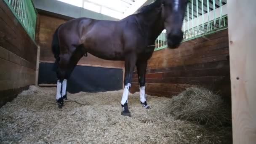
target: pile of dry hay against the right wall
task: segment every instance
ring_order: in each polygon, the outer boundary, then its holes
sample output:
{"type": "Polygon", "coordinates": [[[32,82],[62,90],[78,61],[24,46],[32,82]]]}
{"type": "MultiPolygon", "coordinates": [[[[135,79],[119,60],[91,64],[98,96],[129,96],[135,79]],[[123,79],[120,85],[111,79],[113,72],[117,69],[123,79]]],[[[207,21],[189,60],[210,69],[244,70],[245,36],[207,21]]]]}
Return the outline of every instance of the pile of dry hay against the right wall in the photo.
{"type": "Polygon", "coordinates": [[[231,108],[221,96],[206,88],[190,87],[174,96],[170,112],[176,119],[189,120],[210,127],[231,123],[231,108]]]}

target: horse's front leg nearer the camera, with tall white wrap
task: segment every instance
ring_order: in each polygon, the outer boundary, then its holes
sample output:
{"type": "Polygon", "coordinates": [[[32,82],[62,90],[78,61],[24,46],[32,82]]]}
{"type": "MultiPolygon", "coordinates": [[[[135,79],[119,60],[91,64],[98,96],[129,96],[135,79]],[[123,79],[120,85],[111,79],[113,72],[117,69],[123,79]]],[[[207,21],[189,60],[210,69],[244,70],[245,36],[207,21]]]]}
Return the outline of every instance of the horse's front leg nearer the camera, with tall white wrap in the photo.
{"type": "Polygon", "coordinates": [[[131,117],[131,113],[128,109],[128,93],[131,88],[131,81],[133,76],[133,69],[136,64],[136,54],[128,54],[125,56],[125,77],[124,77],[124,89],[123,89],[123,97],[121,100],[121,106],[123,111],[121,115],[131,117]]]}

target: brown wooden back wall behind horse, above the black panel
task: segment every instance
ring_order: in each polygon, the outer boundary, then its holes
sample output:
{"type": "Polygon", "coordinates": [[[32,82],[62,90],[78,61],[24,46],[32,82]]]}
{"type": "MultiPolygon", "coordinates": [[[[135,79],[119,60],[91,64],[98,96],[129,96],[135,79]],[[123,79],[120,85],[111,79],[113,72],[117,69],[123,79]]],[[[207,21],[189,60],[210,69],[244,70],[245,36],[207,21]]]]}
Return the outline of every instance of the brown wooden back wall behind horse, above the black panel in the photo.
{"type": "MultiPolygon", "coordinates": [[[[40,61],[55,61],[53,53],[51,52],[52,36],[56,28],[66,21],[67,19],[59,18],[59,16],[50,16],[46,13],[38,14],[36,42],[38,45],[40,45],[40,61]]],[[[92,56],[89,53],[88,57],[83,57],[80,59],[78,64],[100,67],[124,67],[123,61],[107,61],[92,56]]]]}

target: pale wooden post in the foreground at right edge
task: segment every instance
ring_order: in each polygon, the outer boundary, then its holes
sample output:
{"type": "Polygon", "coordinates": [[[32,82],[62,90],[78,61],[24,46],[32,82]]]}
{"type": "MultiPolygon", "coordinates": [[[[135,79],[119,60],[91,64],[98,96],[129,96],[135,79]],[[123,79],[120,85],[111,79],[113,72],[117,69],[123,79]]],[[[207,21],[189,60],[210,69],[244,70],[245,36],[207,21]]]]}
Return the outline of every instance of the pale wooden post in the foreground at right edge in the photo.
{"type": "Polygon", "coordinates": [[[228,0],[234,144],[256,144],[256,0],[228,0]]]}

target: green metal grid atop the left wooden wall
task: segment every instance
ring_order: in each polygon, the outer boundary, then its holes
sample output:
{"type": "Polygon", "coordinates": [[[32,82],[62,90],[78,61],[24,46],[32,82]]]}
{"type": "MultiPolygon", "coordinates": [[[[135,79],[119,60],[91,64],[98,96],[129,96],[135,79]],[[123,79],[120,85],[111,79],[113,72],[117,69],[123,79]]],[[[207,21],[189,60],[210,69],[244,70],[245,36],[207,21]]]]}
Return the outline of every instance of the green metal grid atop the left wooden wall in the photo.
{"type": "Polygon", "coordinates": [[[37,11],[32,0],[4,0],[29,37],[35,41],[37,11]]]}

